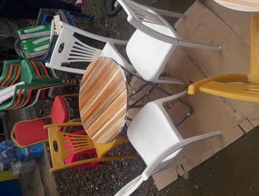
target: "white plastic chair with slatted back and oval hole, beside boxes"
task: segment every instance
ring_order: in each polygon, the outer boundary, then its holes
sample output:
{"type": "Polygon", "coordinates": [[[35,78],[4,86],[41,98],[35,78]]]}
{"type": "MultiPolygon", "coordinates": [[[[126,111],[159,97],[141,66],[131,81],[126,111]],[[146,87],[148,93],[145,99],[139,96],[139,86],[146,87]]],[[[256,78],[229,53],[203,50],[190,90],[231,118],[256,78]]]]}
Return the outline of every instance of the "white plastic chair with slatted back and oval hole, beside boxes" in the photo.
{"type": "Polygon", "coordinates": [[[131,71],[136,71],[132,65],[130,65],[119,51],[115,48],[114,44],[127,45],[127,41],[115,40],[99,35],[95,35],[81,29],[75,28],[73,26],[67,25],[64,22],[60,22],[60,25],[63,27],[61,33],[55,44],[52,57],[49,63],[46,63],[47,67],[58,69],[62,71],[68,71],[73,73],[84,74],[85,70],[64,67],[61,64],[64,62],[92,62],[100,56],[106,56],[114,59],[120,65],[126,67],[131,71]],[[106,45],[103,50],[93,48],[87,44],[82,43],[74,37],[74,33],[78,33],[88,38],[106,42],[106,45]],[[64,44],[64,47],[61,52],[59,52],[59,46],[64,44]]]}

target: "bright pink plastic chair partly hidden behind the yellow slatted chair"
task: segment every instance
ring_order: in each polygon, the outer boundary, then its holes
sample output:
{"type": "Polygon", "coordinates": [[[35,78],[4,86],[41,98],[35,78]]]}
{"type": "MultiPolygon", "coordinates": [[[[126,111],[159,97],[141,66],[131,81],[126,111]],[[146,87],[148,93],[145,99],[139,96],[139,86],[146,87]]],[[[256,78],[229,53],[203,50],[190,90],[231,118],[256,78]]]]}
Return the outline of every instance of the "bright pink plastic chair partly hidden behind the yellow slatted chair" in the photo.
{"type": "MultiPolygon", "coordinates": [[[[73,132],[73,134],[75,135],[79,135],[79,134],[84,134],[84,135],[87,135],[87,132],[85,132],[85,130],[80,130],[80,131],[76,131],[76,132],[73,132]]],[[[66,137],[73,137],[73,136],[66,136],[66,137]]],[[[74,140],[65,140],[65,141],[74,141],[74,140]]],[[[66,144],[66,145],[74,145],[76,143],[70,143],[70,144],[66,144]]],[[[69,147],[67,149],[71,149],[71,148],[77,148],[77,146],[73,146],[73,147],[69,147]]],[[[71,151],[70,153],[72,153],[74,151],[71,151]]],[[[72,155],[70,157],[68,157],[67,159],[65,159],[65,163],[68,164],[68,163],[72,163],[72,162],[76,162],[77,159],[78,159],[78,156],[79,155],[83,155],[84,159],[90,159],[88,153],[93,153],[95,152],[95,157],[94,158],[98,158],[98,155],[97,155],[97,152],[96,152],[96,149],[90,149],[90,150],[85,150],[83,152],[79,152],[78,154],[75,154],[75,155],[72,155]]],[[[77,165],[77,166],[73,166],[73,167],[70,167],[70,168],[82,168],[82,167],[102,167],[103,164],[99,164],[98,162],[94,162],[94,163],[88,163],[88,164],[83,164],[83,165],[77,165]]]]}

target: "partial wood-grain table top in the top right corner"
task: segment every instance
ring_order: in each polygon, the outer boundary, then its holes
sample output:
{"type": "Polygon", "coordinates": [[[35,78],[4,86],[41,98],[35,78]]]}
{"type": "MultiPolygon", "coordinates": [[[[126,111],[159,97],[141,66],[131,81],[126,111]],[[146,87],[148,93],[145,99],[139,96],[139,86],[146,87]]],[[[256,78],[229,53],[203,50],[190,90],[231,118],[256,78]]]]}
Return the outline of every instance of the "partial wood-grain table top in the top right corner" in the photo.
{"type": "Polygon", "coordinates": [[[214,0],[227,8],[245,12],[259,12],[259,0],[214,0]]]}

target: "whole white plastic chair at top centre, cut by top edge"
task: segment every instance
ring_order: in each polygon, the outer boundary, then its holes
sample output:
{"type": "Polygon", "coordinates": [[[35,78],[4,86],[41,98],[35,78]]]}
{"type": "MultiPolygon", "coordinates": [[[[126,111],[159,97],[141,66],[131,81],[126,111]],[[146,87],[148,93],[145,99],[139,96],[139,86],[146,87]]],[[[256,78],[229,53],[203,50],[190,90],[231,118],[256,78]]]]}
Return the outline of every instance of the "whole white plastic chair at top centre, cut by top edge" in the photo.
{"type": "Polygon", "coordinates": [[[118,0],[118,2],[128,14],[128,22],[137,28],[127,45],[127,55],[137,72],[147,81],[157,83],[181,81],[159,78],[177,46],[221,50],[220,46],[182,40],[175,29],[159,14],[176,18],[185,18],[186,15],[146,7],[130,0],[118,0]]]}

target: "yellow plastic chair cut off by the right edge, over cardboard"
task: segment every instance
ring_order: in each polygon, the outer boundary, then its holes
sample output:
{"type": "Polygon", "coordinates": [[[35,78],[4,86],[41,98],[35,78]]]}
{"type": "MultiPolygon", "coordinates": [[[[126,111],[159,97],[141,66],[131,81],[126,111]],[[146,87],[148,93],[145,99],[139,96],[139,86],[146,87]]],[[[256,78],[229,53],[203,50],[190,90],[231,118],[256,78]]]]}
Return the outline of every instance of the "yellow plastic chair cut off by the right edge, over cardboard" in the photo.
{"type": "Polygon", "coordinates": [[[224,74],[202,79],[188,87],[188,94],[202,91],[230,99],[259,103],[259,13],[251,14],[249,37],[249,75],[224,74]]]}

